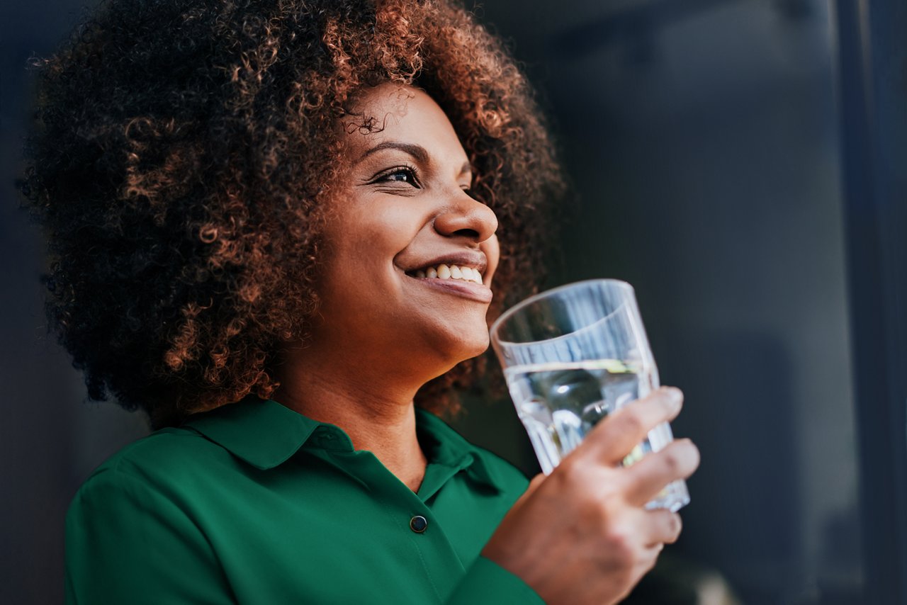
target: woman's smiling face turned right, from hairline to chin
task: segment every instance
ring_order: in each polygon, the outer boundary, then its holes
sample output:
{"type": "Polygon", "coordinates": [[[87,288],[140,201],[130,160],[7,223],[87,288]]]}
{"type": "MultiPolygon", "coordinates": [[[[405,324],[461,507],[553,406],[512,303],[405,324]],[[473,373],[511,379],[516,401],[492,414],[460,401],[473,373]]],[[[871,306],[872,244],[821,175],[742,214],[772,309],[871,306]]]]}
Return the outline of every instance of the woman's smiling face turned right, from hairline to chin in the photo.
{"type": "Polygon", "coordinates": [[[451,122],[424,92],[388,83],[340,127],[344,171],[312,346],[437,374],[482,353],[498,223],[467,192],[472,171],[451,122]]]}

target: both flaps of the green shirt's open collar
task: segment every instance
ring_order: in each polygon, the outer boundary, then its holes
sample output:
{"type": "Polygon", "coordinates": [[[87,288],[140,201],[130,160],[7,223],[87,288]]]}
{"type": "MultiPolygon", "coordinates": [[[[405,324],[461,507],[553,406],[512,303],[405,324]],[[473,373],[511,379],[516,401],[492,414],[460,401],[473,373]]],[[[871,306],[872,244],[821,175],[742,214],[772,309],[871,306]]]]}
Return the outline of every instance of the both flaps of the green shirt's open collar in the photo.
{"type": "MultiPolygon", "coordinates": [[[[464,470],[480,483],[500,489],[483,450],[430,412],[416,408],[415,422],[429,464],[464,470]]],[[[317,422],[272,399],[255,396],[190,416],[185,425],[262,470],[283,464],[310,440],[317,446],[318,440],[311,439],[315,434],[336,434],[347,445],[345,449],[352,450],[349,437],[334,424],[317,422]]]]}

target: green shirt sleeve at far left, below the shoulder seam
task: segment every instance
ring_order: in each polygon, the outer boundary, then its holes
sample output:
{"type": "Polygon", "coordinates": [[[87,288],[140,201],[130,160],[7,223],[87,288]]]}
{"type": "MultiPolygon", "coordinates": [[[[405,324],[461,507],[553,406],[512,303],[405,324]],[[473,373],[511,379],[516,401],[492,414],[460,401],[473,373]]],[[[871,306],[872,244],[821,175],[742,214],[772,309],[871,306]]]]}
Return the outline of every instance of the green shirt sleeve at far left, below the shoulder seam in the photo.
{"type": "Polygon", "coordinates": [[[67,605],[232,603],[199,527],[138,478],[103,470],[66,515],[67,605]]]}

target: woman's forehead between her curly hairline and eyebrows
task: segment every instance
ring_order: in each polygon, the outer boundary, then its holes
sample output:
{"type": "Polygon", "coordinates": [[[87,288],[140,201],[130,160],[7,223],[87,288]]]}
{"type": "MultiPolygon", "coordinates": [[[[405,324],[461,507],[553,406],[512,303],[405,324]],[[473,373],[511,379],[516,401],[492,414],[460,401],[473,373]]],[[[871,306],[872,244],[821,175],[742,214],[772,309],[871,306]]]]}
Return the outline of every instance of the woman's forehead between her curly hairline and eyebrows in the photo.
{"type": "Polygon", "coordinates": [[[367,89],[341,118],[349,151],[364,152],[385,141],[420,145],[439,161],[462,163],[463,145],[444,110],[417,88],[385,83],[367,89]]]}

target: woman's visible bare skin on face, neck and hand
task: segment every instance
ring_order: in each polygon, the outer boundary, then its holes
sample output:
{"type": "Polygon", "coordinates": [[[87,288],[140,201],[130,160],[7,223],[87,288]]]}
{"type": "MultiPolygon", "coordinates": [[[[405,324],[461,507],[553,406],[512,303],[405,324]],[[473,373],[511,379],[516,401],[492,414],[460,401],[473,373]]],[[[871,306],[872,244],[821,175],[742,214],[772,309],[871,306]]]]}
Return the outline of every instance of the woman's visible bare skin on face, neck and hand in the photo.
{"type": "MultiPolygon", "coordinates": [[[[307,346],[285,352],[275,399],[340,426],[417,490],[426,461],[413,397],[488,347],[497,220],[469,197],[466,154],[425,93],[383,84],[363,92],[353,113],[361,115],[337,126],[345,170],[331,202],[321,315],[307,346]],[[384,128],[363,132],[363,116],[384,128]],[[481,268],[483,285],[413,277],[445,259],[481,268]]],[[[483,556],[550,604],[625,597],[680,532],[676,513],[645,503],[693,473],[699,457],[681,439],[629,468],[620,461],[678,415],[682,400],[661,388],[598,424],[551,475],[532,481],[483,556]]]]}

